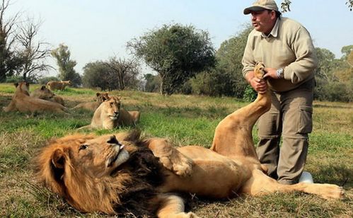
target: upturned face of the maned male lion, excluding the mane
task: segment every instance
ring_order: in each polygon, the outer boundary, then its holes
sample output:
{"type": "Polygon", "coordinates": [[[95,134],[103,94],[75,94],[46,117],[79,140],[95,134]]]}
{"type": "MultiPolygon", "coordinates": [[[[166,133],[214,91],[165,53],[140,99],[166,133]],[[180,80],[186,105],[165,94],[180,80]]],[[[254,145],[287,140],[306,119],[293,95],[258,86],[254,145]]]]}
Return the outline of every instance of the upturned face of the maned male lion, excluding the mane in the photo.
{"type": "Polygon", "coordinates": [[[68,137],[56,143],[51,156],[54,168],[73,166],[92,178],[110,176],[115,168],[129,159],[124,145],[114,135],[90,137],[68,137]]]}

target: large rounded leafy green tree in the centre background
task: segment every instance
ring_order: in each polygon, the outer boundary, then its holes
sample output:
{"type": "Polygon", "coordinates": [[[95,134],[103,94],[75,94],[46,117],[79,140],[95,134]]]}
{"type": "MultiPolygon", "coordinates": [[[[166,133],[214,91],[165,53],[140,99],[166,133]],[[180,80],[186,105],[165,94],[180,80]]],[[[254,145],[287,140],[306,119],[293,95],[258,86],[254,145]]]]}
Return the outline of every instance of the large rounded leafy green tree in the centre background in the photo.
{"type": "Polygon", "coordinates": [[[209,34],[192,25],[163,25],[128,42],[127,47],[158,72],[163,95],[171,95],[190,77],[215,64],[209,34]]]}

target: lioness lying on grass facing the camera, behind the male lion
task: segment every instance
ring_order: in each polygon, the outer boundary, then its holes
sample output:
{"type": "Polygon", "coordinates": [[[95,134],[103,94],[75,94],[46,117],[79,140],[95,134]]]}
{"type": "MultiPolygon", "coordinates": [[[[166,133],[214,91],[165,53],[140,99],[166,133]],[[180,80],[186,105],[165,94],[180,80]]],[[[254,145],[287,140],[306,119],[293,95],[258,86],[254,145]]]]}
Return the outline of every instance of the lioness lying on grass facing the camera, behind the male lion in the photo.
{"type": "Polygon", "coordinates": [[[110,97],[99,105],[93,114],[91,124],[79,128],[82,129],[105,129],[112,130],[120,126],[136,125],[139,121],[139,112],[132,111],[129,113],[121,108],[120,98],[110,97]]]}

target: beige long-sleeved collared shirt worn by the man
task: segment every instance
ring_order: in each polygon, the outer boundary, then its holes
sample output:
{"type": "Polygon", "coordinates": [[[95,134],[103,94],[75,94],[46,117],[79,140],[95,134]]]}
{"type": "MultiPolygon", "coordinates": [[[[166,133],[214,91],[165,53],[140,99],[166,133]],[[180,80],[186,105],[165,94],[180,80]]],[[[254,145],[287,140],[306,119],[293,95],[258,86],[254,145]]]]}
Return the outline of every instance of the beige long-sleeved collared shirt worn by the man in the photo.
{"type": "Polygon", "coordinates": [[[318,65],[308,30],[289,18],[277,18],[268,36],[255,29],[251,31],[242,60],[244,77],[257,62],[284,69],[284,79],[269,79],[273,91],[289,91],[313,79],[318,65]]]}

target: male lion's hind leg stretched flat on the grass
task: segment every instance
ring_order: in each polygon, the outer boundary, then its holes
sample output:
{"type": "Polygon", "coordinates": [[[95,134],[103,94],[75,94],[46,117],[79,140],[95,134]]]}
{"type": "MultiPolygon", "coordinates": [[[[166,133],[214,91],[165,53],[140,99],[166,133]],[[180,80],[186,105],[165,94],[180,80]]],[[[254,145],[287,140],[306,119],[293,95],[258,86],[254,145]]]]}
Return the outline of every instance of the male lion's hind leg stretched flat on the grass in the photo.
{"type": "Polygon", "coordinates": [[[327,200],[342,199],[345,195],[343,188],[338,185],[318,183],[284,185],[265,175],[260,170],[255,170],[253,172],[253,178],[250,178],[242,189],[243,193],[248,193],[253,196],[267,195],[270,193],[291,193],[294,191],[318,195],[327,200]]]}

